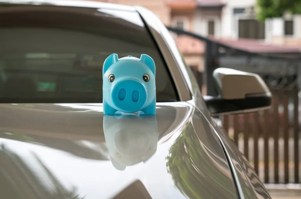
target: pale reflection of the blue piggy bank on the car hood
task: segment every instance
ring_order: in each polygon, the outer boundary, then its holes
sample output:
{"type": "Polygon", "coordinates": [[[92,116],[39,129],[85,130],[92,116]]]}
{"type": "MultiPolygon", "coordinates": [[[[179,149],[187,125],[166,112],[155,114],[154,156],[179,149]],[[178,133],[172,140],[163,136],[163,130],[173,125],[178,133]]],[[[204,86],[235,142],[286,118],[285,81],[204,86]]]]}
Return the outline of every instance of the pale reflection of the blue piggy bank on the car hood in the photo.
{"type": "Polygon", "coordinates": [[[104,115],[103,132],[111,162],[118,170],[145,162],[157,150],[156,115],[104,115]]]}

